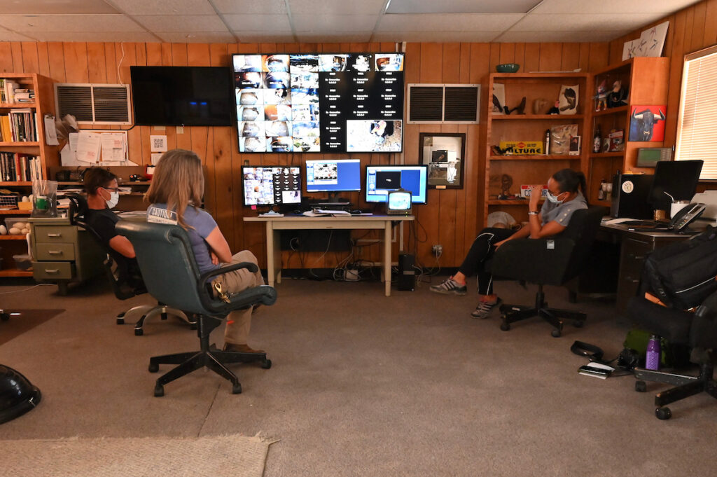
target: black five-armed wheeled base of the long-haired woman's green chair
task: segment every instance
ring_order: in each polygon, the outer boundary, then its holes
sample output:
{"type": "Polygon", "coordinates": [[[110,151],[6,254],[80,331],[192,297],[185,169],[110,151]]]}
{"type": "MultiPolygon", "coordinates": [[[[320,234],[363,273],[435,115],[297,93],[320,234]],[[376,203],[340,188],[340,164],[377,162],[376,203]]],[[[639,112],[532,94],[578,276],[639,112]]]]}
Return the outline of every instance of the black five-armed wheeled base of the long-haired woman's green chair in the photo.
{"type": "Polygon", "coordinates": [[[222,320],[211,316],[199,316],[197,320],[197,335],[199,336],[199,351],[189,351],[186,353],[165,354],[163,356],[154,356],[149,359],[149,372],[158,372],[160,364],[179,364],[171,371],[163,374],[157,379],[154,386],[155,397],[164,395],[164,384],[174,381],[185,374],[189,374],[196,369],[207,367],[232,382],[232,394],[242,392],[242,384],[239,383],[237,376],[224,366],[230,363],[250,363],[261,362],[261,367],[269,369],[271,360],[267,359],[266,353],[242,353],[237,351],[219,351],[216,346],[209,344],[209,334],[214,328],[217,328],[222,320]]]}

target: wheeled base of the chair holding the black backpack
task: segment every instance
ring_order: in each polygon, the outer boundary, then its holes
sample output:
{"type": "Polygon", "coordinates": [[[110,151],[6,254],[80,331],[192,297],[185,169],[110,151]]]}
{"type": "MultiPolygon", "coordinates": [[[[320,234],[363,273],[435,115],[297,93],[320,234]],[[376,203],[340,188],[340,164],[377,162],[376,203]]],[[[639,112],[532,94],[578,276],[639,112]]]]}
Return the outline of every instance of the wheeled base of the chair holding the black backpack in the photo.
{"type": "Polygon", "coordinates": [[[635,391],[638,392],[647,390],[645,381],[664,382],[676,386],[655,395],[655,406],[657,406],[655,417],[660,420],[672,417],[672,411],[667,407],[668,404],[683,400],[685,397],[706,392],[717,399],[717,382],[713,377],[713,364],[711,363],[701,364],[698,376],[685,376],[683,374],[652,371],[652,369],[635,368],[635,377],[640,379],[640,381],[635,382],[635,391]]]}

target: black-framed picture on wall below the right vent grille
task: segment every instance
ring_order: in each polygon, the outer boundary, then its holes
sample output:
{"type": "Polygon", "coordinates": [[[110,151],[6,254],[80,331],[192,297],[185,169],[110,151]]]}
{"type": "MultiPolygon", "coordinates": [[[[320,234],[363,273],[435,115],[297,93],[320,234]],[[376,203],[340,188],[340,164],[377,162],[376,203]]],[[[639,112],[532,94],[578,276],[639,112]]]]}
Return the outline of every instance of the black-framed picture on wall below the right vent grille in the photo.
{"type": "Polygon", "coordinates": [[[419,164],[428,165],[428,186],[462,189],[465,133],[420,133],[419,164]]]}

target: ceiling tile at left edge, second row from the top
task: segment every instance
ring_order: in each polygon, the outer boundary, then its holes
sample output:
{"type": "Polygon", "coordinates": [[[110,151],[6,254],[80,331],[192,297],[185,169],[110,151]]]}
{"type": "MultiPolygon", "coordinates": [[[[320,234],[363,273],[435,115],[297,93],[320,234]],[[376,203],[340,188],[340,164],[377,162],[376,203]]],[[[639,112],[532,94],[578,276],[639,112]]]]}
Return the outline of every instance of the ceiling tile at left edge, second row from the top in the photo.
{"type": "Polygon", "coordinates": [[[0,26],[16,32],[141,32],[124,15],[0,15],[0,26]]]}

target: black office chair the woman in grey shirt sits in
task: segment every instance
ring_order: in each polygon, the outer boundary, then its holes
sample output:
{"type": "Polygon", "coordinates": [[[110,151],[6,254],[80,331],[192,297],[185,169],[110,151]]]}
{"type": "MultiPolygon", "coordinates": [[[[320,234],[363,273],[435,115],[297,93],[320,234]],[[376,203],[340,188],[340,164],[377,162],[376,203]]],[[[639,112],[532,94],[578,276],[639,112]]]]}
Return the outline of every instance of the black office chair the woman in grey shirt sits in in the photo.
{"type": "Polygon", "coordinates": [[[548,308],[543,285],[564,285],[582,271],[594,241],[600,220],[607,213],[605,207],[592,206],[577,210],[566,229],[555,237],[516,239],[505,242],[487,264],[496,278],[536,283],[535,306],[500,306],[500,329],[508,331],[511,323],[540,316],[553,326],[551,334],[559,337],[563,330],[561,318],[583,326],[587,315],[577,311],[548,308]]]}

